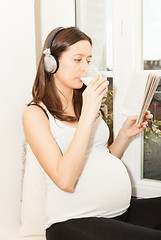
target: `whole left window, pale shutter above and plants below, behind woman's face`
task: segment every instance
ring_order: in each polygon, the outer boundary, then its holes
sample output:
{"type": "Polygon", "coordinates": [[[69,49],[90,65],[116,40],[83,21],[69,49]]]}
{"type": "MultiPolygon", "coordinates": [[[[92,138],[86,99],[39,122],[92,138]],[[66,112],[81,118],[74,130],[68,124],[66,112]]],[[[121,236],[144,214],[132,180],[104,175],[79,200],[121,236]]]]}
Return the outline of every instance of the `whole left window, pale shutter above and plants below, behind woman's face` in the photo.
{"type": "Polygon", "coordinates": [[[76,0],[76,25],[93,41],[92,63],[107,77],[109,88],[102,101],[104,120],[113,141],[113,26],[112,0],[76,0]]]}

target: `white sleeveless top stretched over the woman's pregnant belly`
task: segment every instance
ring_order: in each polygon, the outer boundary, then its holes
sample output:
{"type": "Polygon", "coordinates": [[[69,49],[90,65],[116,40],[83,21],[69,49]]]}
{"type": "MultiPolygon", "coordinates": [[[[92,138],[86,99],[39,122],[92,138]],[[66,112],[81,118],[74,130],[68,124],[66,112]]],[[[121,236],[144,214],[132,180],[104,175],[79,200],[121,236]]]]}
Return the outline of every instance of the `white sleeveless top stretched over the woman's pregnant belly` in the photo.
{"type": "MultiPolygon", "coordinates": [[[[47,112],[51,133],[64,154],[73,139],[76,128],[55,119],[43,104],[41,106],[47,112]]],[[[59,189],[44,172],[47,184],[46,215],[48,219],[45,229],[53,223],[75,218],[112,218],[127,210],[131,199],[129,175],[121,160],[109,152],[108,138],[109,128],[104,120],[98,117],[93,124],[84,169],[74,192],[59,189]]]]}

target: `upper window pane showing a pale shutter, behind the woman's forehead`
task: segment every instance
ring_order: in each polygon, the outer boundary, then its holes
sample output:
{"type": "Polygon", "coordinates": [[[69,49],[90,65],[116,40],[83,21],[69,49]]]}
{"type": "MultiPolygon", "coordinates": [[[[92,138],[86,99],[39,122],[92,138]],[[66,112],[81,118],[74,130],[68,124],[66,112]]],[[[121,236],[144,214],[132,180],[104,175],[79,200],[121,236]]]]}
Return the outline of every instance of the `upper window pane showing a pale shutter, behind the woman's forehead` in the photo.
{"type": "Polygon", "coordinates": [[[106,0],[76,0],[76,25],[93,41],[92,62],[106,70],[106,0]]]}

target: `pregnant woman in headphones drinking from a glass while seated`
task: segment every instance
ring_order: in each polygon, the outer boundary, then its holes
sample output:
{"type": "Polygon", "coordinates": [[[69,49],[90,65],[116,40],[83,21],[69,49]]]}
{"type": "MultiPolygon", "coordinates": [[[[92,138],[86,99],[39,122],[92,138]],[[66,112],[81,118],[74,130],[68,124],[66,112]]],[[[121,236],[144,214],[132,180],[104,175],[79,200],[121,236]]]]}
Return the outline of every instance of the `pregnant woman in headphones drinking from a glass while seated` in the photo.
{"type": "Polygon", "coordinates": [[[140,125],[130,116],[108,146],[100,113],[108,81],[85,77],[92,41],[76,27],[47,37],[31,102],[23,112],[26,139],[46,177],[47,240],[159,240],[161,198],[134,199],[120,158],[140,125]]]}

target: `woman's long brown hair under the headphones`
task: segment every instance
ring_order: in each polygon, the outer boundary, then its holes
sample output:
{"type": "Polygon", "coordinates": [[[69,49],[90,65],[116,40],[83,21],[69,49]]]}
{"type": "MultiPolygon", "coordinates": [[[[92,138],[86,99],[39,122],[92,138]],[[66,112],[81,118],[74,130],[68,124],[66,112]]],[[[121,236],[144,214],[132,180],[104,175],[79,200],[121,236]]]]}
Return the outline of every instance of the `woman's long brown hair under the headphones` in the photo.
{"type": "MultiPolygon", "coordinates": [[[[53,31],[55,30],[56,29],[54,29],[53,31]]],[[[53,31],[51,31],[47,36],[46,41],[44,43],[43,51],[46,49],[48,39],[53,31]]],[[[79,28],[77,27],[64,28],[63,30],[58,32],[57,35],[55,36],[51,46],[51,54],[56,55],[56,57],[59,60],[62,53],[65,52],[69,46],[81,40],[87,40],[92,45],[91,38],[88,37],[82,31],[80,31],[79,28]]],[[[64,110],[62,108],[62,103],[61,103],[57,88],[55,86],[55,83],[54,81],[50,81],[50,77],[51,77],[50,74],[48,74],[44,70],[43,51],[39,61],[36,78],[32,88],[33,99],[28,104],[28,106],[31,105],[32,103],[39,104],[40,102],[42,102],[55,118],[58,118],[62,121],[69,121],[69,122],[79,120],[80,114],[81,114],[81,108],[82,108],[82,92],[84,91],[86,86],[83,84],[83,87],[81,89],[74,89],[73,107],[74,107],[75,117],[64,115],[64,110]]]]}

